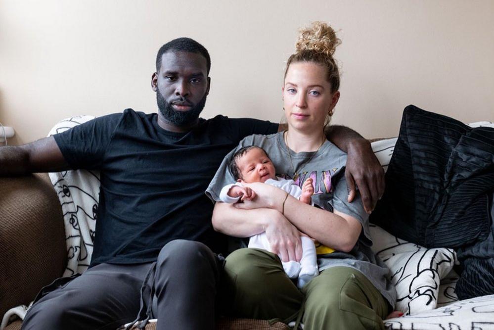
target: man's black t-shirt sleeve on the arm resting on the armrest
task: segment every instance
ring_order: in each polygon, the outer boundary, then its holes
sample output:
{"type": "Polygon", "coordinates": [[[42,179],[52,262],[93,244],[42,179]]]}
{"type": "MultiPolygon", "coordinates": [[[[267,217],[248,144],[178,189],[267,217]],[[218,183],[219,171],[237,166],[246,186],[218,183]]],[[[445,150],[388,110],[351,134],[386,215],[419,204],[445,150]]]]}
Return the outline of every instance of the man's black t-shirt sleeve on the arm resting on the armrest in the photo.
{"type": "Polygon", "coordinates": [[[69,166],[72,169],[100,169],[121,117],[122,114],[98,117],[53,135],[69,166]]]}

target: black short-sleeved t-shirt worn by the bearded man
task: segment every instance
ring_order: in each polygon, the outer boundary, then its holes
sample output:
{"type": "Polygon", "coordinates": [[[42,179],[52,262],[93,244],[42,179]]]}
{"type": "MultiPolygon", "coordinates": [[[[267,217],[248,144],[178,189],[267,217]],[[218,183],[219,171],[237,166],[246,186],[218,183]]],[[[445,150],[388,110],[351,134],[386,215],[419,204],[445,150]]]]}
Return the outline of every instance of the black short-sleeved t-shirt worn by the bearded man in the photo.
{"type": "Polygon", "coordinates": [[[188,133],[174,133],[159,127],[157,117],[127,109],[54,136],[71,168],[101,171],[91,266],[152,261],[178,238],[225,251],[226,238],[213,230],[213,204],[204,191],[240,140],[278,128],[216,116],[199,119],[188,133]]]}

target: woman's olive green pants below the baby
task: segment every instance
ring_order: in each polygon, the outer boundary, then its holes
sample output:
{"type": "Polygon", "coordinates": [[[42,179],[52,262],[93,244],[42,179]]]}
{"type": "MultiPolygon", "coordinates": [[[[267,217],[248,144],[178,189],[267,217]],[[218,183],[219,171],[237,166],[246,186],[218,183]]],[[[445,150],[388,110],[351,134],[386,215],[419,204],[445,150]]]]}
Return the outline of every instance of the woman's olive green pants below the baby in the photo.
{"type": "Polygon", "coordinates": [[[226,258],[221,310],[225,315],[289,322],[303,313],[305,330],[384,329],[388,303],[359,271],[329,268],[302,290],[277,255],[239,249],[226,258]],[[300,314],[299,314],[300,313],[300,314]]]}

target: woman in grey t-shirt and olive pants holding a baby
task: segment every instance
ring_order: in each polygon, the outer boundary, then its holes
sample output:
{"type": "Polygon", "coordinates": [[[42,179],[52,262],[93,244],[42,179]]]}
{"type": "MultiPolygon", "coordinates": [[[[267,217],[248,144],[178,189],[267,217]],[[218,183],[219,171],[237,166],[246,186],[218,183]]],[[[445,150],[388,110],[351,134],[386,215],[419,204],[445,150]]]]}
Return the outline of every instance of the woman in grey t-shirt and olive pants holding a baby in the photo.
{"type": "MultiPolygon", "coordinates": [[[[300,184],[312,177],[313,202],[320,208],[262,183],[249,185],[257,194],[252,201],[216,203],[217,231],[238,237],[266,231],[273,252],[239,249],[226,258],[227,314],[285,322],[303,316],[306,330],[384,329],[382,319],[394,306],[396,292],[387,279],[388,269],[370,249],[368,214],[361,200],[347,201],[346,154],[324,135],[340,97],[333,58],[339,43],[324,23],[301,31],[282,89],[288,131],[250,136],[239,145],[263,147],[277,176],[300,184]],[[321,273],[299,291],[283,272],[280,258],[300,260],[301,233],[318,242],[321,273]],[[330,253],[328,247],[336,251],[330,253]]],[[[208,193],[217,196],[229,178],[224,161],[208,193]]]]}

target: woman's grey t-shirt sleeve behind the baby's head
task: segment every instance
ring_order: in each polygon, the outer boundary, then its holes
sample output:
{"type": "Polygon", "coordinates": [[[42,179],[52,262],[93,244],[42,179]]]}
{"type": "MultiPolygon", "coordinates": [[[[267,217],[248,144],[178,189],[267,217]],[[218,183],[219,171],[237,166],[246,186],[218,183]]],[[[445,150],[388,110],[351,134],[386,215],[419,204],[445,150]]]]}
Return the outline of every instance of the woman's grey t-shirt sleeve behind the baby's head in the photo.
{"type": "Polygon", "coordinates": [[[220,168],[218,168],[218,171],[216,171],[213,180],[211,180],[211,183],[206,189],[206,195],[209,198],[211,198],[213,202],[221,201],[220,192],[223,187],[236,182],[235,178],[230,172],[230,169],[228,168],[228,164],[230,162],[231,157],[238,149],[240,149],[243,146],[256,145],[255,139],[256,139],[255,135],[246,137],[245,139],[240,141],[240,143],[233,150],[228,152],[225,158],[223,158],[220,168]]]}

